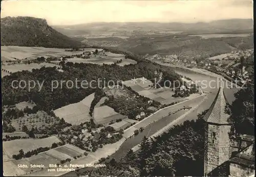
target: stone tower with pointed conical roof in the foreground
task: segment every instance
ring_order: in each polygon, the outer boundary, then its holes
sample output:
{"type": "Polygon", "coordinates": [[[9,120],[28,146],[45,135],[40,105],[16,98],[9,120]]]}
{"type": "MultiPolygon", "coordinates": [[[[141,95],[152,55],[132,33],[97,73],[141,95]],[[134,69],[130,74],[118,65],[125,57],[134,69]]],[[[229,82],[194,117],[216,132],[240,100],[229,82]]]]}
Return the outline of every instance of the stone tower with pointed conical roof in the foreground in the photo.
{"type": "MultiPolygon", "coordinates": [[[[228,102],[221,84],[214,102],[203,118],[205,121],[204,176],[211,176],[213,170],[218,170],[217,167],[230,158],[228,133],[231,123],[229,115],[225,111],[227,105],[228,102]]],[[[219,172],[217,173],[219,174],[219,172]]],[[[216,176],[216,172],[214,174],[216,176]]]]}

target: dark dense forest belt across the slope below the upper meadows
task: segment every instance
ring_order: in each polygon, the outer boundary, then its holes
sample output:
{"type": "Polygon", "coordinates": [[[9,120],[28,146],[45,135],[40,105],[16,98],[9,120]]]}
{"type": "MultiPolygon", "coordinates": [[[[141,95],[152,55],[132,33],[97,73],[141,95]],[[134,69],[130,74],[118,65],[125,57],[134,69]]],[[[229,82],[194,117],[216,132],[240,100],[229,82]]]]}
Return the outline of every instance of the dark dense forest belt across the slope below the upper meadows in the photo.
{"type": "MultiPolygon", "coordinates": [[[[150,62],[141,61],[137,64],[125,65],[120,67],[116,64],[112,65],[97,65],[91,63],[75,63],[69,64],[65,63],[62,65],[64,72],[59,72],[56,67],[40,69],[33,69],[32,72],[21,71],[12,73],[9,76],[5,76],[2,79],[2,104],[3,105],[13,105],[23,101],[33,101],[37,105],[37,110],[45,110],[47,113],[51,110],[57,109],[59,107],[76,103],[81,101],[83,98],[95,92],[93,87],[97,87],[97,83],[92,83],[92,87],[88,89],[82,89],[75,86],[69,89],[66,84],[63,87],[60,86],[53,90],[52,92],[52,81],[68,81],[71,80],[75,83],[78,81],[86,80],[88,82],[92,80],[105,80],[106,82],[113,81],[125,81],[131,78],[141,78],[145,77],[147,79],[152,79],[155,77],[154,72],[162,72],[171,82],[174,80],[180,80],[180,76],[174,71],[170,70],[168,67],[150,62]],[[71,67],[72,65],[72,67],[71,67]],[[38,81],[40,83],[44,82],[40,92],[39,86],[37,85],[30,92],[28,87],[25,89],[13,89],[12,81],[25,80],[27,83],[29,80],[38,81]]],[[[78,83],[79,85],[79,83],[78,83]]],[[[18,86],[18,85],[15,85],[18,86]]],[[[68,85],[69,86],[69,85],[68,85]]]]}

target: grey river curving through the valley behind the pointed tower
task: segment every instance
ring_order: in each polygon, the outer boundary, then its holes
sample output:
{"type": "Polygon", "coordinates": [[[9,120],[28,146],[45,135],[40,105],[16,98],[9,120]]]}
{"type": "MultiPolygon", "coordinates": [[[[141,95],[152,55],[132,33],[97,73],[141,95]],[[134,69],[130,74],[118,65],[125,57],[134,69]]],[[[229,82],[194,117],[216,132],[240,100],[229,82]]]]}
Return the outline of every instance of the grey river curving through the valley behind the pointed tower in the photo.
{"type": "MultiPolygon", "coordinates": [[[[174,69],[174,68],[170,68],[170,69],[174,69]]],[[[194,81],[200,81],[197,82],[199,86],[202,86],[202,90],[209,92],[207,94],[207,99],[197,108],[194,110],[193,113],[189,114],[188,116],[186,116],[182,121],[185,120],[195,120],[197,119],[197,115],[202,113],[205,109],[208,109],[211,105],[211,103],[214,101],[216,94],[219,90],[218,84],[217,84],[217,78],[216,77],[211,77],[208,75],[203,75],[200,73],[195,73],[195,72],[191,72],[191,71],[187,71],[184,69],[179,69],[179,68],[175,68],[174,69],[176,71],[176,73],[186,76],[194,81]],[[203,82],[202,82],[203,81],[203,82]],[[205,83],[211,83],[211,87],[207,86],[205,87],[205,83]]],[[[220,84],[219,84],[220,85],[220,84]]],[[[223,84],[223,90],[225,93],[225,96],[228,100],[228,102],[231,104],[232,101],[234,100],[234,93],[236,93],[238,91],[238,89],[229,89],[226,86],[226,82],[224,82],[223,84]]],[[[194,101],[188,101],[185,102],[184,104],[181,104],[180,106],[193,106],[195,103],[197,103],[198,100],[194,100],[194,101]]],[[[175,109],[176,106],[174,106],[175,109]]],[[[179,106],[177,105],[176,108],[178,108],[179,106]]],[[[151,135],[153,135],[155,132],[157,132],[158,130],[160,130],[161,128],[163,128],[165,125],[167,125],[168,123],[174,121],[176,118],[178,118],[179,116],[183,115],[187,110],[181,110],[178,113],[174,114],[174,115],[170,115],[170,116],[166,116],[158,121],[156,121],[155,123],[148,125],[147,127],[144,128],[144,130],[142,132],[140,132],[137,136],[134,136],[130,139],[127,139],[119,148],[119,150],[112,154],[111,158],[115,158],[115,160],[120,160],[126,153],[127,151],[129,151],[131,148],[133,148],[134,146],[138,145],[142,138],[144,136],[146,137],[150,137],[151,135]]],[[[180,122],[182,123],[182,122],[180,122]]],[[[79,172],[85,171],[85,170],[90,170],[92,168],[84,168],[84,169],[80,169],[79,172]]],[[[69,172],[66,173],[65,176],[76,176],[75,172],[69,172]]]]}

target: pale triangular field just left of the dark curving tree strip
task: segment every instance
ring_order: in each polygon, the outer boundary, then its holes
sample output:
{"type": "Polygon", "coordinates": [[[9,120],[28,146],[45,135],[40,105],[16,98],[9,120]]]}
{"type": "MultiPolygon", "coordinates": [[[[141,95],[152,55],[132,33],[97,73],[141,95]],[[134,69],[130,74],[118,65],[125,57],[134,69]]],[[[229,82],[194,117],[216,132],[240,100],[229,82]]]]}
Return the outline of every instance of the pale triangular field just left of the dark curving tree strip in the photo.
{"type": "Polygon", "coordinates": [[[78,125],[89,121],[92,117],[89,115],[90,106],[94,99],[94,93],[84,98],[78,103],[69,104],[54,110],[54,113],[60,119],[63,118],[66,122],[72,125],[78,125]]]}

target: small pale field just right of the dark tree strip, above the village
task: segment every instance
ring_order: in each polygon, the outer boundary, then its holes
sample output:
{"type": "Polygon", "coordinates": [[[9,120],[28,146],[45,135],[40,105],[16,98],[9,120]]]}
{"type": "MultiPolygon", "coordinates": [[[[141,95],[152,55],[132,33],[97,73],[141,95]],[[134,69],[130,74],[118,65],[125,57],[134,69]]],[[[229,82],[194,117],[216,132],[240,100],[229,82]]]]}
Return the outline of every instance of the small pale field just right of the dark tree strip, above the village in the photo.
{"type": "Polygon", "coordinates": [[[124,119],[126,117],[116,113],[109,106],[101,106],[94,108],[93,118],[99,124],[106,124],[111,122],[111,120],[124,119]]]}

